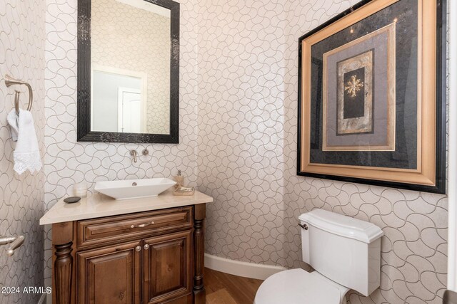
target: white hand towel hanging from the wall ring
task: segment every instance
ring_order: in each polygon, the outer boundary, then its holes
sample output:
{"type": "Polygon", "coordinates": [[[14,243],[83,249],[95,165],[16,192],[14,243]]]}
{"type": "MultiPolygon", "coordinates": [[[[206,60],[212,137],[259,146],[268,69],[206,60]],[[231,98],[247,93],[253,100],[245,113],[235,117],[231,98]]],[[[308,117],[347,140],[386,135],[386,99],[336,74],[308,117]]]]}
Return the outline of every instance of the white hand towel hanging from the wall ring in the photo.
{"type": "Polygon", "coordinates": [[[19,125],[16,120],[16,110],[11,110],[7,118],[11,125],[11,137],[16,136],[17,144],[14,150],[14,171],[22,174],[29,170],[31,173],[41,169],[41,156],[36,140],[34,117],[31,112],[19,110],[19,125]]]}

